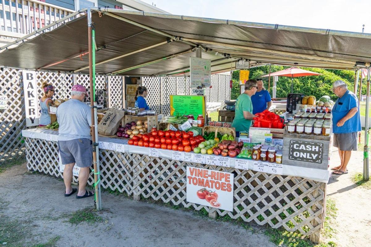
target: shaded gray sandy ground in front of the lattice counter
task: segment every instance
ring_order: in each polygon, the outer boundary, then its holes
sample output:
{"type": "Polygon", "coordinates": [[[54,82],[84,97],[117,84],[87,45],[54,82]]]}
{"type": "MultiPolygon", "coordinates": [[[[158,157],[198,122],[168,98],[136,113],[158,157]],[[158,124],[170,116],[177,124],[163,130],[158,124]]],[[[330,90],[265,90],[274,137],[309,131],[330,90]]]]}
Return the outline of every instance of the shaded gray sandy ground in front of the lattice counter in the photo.
{"type": "Polygon", "coordinates": [[[30,174],[25,165],[1,173],[0,188],[0,217],[6,215],[24,223],[32,244],[61,236],[57,246],[63,247],[275,246],[263,233],[106,192],[102,194],[106,211],[99,214],[103,222],[72,225],[58,217],[92,207],[93,197],[65,198],[63,181],[30,174]]]}

